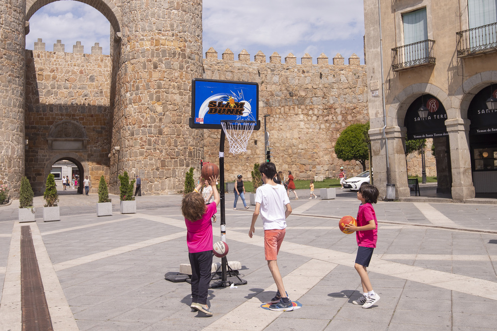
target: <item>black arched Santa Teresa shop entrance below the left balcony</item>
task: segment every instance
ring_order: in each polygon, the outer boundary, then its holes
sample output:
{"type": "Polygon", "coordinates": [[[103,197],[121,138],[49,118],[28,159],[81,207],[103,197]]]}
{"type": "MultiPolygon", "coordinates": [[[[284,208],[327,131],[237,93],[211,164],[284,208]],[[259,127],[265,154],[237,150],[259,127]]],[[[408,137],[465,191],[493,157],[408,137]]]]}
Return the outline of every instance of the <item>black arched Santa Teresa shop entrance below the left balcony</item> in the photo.
{"type": "Polygon", "coordinates": [[[416,98],[409,106],[404,119],[408,139],[431,138],[433,140],[437,176],[436,192],[441,194],[450,194],[452,187],[446,120],[445,107],[431,94],[423,94],[416,98]]]}

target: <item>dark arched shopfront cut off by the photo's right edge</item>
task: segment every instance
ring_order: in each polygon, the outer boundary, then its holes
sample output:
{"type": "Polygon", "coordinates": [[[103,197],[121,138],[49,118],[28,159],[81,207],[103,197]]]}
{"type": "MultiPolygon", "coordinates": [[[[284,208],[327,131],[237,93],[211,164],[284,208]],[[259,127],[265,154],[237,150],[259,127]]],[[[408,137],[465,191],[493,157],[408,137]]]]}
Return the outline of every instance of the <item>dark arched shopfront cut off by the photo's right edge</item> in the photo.
{"type": "Polygon", "coordinates": [[[497,193],[497,84],[483,88],[473,97],[468,119],[475,193],[497,193]]]}

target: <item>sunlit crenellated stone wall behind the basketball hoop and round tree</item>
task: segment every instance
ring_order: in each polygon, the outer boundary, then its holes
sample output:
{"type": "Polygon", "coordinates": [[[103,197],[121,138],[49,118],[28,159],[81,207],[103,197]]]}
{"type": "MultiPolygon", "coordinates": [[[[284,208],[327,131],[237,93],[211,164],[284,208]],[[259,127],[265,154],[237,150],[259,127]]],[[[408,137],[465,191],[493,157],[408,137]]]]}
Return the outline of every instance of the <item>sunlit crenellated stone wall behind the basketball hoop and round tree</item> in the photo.
{"type": "MultiPolygon", "coordinates": [[[[269,115],[271,161],[279,171],[290,170],[296,179],[336,177],[341,166],[349,177],[362,172],[359,162],[337,159],[334,144],[347,126],[368,122],[365,66],[355,54],[348,65],[339,54],[332,65],[324,54],[317,64],[308,54],[299,62],[293,54],[281,63],[281,56],[273,53],[268,63],[262,52],[254,62],[245,50],[238,61],[229,49],[221,60],[212,48],[206,52],[204,78],[259,84],[261,129],[252,133],[246,153],[229,154],[225,142],[226,182],[238,174],[250,180],[253,164],[264,162],[264,115],[269,115]]],[[[204,130],[205,161],[218,163],[219,139],[220,130],[204,130]]]]}

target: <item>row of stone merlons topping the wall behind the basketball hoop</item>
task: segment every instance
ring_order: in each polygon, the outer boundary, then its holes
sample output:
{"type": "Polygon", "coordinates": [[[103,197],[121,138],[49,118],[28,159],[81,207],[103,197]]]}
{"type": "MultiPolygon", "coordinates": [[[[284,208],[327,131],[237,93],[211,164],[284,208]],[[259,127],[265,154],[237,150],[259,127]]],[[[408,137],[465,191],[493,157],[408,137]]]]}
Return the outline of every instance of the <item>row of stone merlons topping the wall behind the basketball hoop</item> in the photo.
{"type": "MultiPolygon", "coordinates": [[[[207,52],[205,52],[205,59],[206,60],[219,60],[218,59],[218,53],[214,48],[209,48],[207,52]]],[[[222,54],[221,60],[225,61],[235,61],[235,54],[227,48],[226,51],[222,54]]],[[[243,49],[240,54],[238,55],[238,61],[240,62],[250,62],[250,54],[248,54],[246,49],[243,49]]],[[[300,59],[301,65],[304,66],[310,66],[313,65],[313,58],[308,54],[304,54],[304,56],[300,59]]],[[[255,63],[267,63],[266,61],[266,56],[262,51],[258,51],[254,57],[253,57],[253,62],[255,63]]],[[[274,52],[271,54],[269,57],[269,63],[273,64],[281,64],[281,56],[277,53],[274,52]]],[[[292,53],[288,54],[285,57],[285,64],[287,65],[297,65],[297,57],[293,55],[292,53]]],[[[321,55],[317,59],[317,64],[318,65],[323,65],[323,66],[328,66],[330,65],[329,63],[329,58],[326,56],[325,53],[321,53],[321,55]]],[[[335,57],[333,58],[333,65],[335,66],[343,66],[345,65],[345,59],[340,55],[340,53],[337,53],[335,57]]],[[[361,65],[361,59],[356,55],[352,54],[348,58],[348,65],[349,66],[360,66],[361,65]]]]}

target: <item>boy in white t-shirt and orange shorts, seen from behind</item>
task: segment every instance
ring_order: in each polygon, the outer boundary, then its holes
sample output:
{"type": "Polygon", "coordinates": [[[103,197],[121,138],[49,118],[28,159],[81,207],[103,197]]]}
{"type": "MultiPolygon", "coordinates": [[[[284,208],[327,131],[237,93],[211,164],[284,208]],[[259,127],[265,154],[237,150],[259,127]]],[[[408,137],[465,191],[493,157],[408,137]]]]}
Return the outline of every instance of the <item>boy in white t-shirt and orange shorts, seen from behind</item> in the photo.
{"type": "Polygon", "coordinates": [[[267,266],[278,288],[276,296],[271,300],[272,305],[269,306],[269,309],[291,311],[293,310],[293,304],[288,299],[288,294],[283,286],[283,279],[281,278],[276,258],[285,237],[285,219],[292,212],[292,207],[290,206],[290,199],[288,199],[285,187],[273,181],[276,175],[276,166],[274,163],[262,163],[259,166],[259,172],[264,185],[257,188],[255,193],[255,210],[252,215],[252,224],[250,225],[248,236],[252,238],[252,234],[255,232],[255,221],[260,213],[264,228],[264,254],[267,266]]]}

